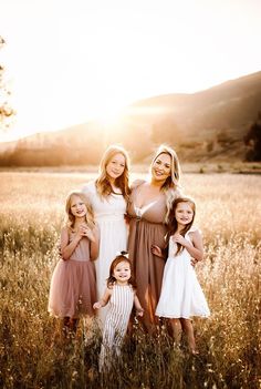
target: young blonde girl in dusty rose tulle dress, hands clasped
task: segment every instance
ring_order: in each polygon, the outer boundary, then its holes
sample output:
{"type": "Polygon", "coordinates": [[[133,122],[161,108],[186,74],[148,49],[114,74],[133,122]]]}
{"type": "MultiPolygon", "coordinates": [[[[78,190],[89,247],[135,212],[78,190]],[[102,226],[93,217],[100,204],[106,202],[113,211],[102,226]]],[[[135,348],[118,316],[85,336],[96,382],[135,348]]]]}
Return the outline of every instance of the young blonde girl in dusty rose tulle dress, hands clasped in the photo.
{"type": "Polygon", "coordinates": [[[61,254],[51,279],[48,310],[76,330],[80,315],[93,316],[98,255],[98,228],[86,196],[72,192],[66,199],[67,223],[61,232],[61,254]]]}

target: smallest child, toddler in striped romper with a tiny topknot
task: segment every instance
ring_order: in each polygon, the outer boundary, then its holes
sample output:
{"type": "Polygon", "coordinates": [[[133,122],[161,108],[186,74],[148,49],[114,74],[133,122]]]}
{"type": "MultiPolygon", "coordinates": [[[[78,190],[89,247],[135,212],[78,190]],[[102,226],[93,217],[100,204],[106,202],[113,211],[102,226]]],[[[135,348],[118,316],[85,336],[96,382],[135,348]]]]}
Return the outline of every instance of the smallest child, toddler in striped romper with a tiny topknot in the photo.
{"type": "Polygon", "coordinates": [[[100,371],[109,369],[112,358],[119,356],[133,306],[136,308],[137,316],[143,316],[144,313],[136,296],[130,260],[127,258],[126,252],[122,252],[113,260],[105,294],[93,307],[100,309],[105,307],[108,301],[100,354],[100,371]]]}

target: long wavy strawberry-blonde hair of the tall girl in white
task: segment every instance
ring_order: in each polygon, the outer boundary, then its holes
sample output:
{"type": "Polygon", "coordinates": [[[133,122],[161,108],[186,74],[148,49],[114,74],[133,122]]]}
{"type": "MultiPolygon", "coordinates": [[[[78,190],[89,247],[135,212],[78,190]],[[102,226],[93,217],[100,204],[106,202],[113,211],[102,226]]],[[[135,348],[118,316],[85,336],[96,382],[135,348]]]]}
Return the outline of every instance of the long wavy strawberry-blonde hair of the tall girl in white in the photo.
{"type": "Polygon", "coordinates": [[[116,154],[122,154],[124,156],[125,167],[124,167],[123,174],[116,178],[115,185],[122,191],[124,198],[127,201],[130,192],[128,186],[129,157],[126,150],[123,149],[122,146],[112,145],[105,151],[100,164],[100,174],[95,184],[96,184],[97,193],[100,194],[101,197],[107,197],[113,193],[113,188],[106,173],[106,167],[107,167],[107,164],[116,154]]]}

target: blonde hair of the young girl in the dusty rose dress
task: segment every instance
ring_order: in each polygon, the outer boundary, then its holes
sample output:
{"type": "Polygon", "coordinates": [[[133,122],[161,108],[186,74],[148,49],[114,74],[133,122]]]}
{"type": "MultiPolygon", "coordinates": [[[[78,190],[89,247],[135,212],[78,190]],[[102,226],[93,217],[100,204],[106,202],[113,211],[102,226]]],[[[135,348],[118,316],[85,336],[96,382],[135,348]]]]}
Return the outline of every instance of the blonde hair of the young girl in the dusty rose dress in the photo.
{"type": "Polygon", "coordinates": [[[72,191],[69,193],[67,195],[67,198],[66,198],[66,203],[65,203],[65,212],[66,212],[66,226],[70,228],[70,229],[73,229],[74,227],[74,224],[75,224],[75,216],[72,214],[72,211],[71,211],[71,204],[72,204],[72,197],[73,196],[77,196],[82,199],[82,202],[85,204],[86,206],[86,216],[85,216],[85,222],[86,222],[86,225],[93,229],[94,226],[95,226],[95,223],[94,223],[94,215],[93,215],[93,209],[92,209],[92,206],[91,204],[88,203],[88,199],[86,197],[86,195],[80,191],[72,191]]]}

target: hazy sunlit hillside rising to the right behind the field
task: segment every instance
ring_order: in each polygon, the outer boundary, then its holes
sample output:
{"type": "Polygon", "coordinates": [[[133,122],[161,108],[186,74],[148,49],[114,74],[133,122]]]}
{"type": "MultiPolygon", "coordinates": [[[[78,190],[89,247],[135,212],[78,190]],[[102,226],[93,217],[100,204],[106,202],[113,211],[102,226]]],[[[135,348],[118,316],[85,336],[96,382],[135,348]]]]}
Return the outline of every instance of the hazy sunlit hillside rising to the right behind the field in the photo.
{"type": "Polygon", "coordinates": [[[0,165],[96,164],[111,143],[121,143],[135,162],[160,144],[173,145],[181,161],[242,161],[243,137],[261,111],[261,72],[194,94],[137,101],[114,124],[88,122],[40,133],[0,149],[0,165]]]}

